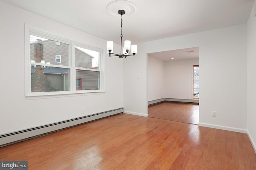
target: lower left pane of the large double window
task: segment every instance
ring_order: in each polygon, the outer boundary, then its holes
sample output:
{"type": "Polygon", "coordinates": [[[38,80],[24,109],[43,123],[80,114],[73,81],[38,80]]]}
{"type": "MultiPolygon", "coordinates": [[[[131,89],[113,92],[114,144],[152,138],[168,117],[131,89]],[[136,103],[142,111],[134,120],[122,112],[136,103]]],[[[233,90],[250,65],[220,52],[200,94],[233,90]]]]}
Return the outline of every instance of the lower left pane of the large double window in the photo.
{"type": "Polygon", "coordinates": [[[70,91],[70,69],[31,66],[31,92],[70,91]]]}

